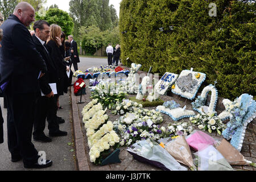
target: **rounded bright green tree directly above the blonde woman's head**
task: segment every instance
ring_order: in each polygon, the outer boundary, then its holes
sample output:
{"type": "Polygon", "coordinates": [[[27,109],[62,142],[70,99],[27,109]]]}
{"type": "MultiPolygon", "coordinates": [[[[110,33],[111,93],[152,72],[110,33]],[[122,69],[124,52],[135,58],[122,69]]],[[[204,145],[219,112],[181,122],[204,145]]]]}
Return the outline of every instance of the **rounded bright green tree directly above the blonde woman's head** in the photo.
{"type": "Polygon", "coordinates": [[[73,19],[67,12],[60,9],[49,9],[45,16],[36,15],[36,20],[46,20],[49,24],[58,24],[66,35],[70,35],[73,31],[73,19]]]}

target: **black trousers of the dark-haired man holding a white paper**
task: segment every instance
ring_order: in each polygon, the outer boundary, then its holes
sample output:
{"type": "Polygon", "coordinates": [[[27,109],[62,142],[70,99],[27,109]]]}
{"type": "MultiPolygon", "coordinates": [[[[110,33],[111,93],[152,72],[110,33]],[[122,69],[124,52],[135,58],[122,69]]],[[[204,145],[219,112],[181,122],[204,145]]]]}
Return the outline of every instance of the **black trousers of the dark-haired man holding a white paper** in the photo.
{"type": "Polygon", "coordinates": [[[59,123],[56,121],[56,97],[39,97],[36,102],[36,116],[34,122],[34,137],[42,137],[46,128],[46,117],[48,117],[49,133],[55,133],[59,130],[59,123]]]}

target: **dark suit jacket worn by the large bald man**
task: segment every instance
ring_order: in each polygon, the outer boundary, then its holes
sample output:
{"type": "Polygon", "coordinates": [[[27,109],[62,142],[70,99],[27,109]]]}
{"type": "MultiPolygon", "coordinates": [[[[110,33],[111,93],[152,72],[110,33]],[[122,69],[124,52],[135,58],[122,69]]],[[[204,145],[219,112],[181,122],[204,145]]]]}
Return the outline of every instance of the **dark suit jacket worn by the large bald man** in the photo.
{"type": "Polygon", "coordinates": [[[47,72],[46,63],[36,51],[32,36],[15,15],[0,27],[0,84],[9,81],[6,92],[28,94],[39,90],[39,72],[47,72]]]}

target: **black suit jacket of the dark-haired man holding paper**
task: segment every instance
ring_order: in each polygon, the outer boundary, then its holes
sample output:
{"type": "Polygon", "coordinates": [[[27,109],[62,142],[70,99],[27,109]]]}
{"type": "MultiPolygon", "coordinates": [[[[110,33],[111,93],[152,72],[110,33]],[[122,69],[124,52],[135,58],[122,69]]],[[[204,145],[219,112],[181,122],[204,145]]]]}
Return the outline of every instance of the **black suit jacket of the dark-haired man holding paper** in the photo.
{"type": "Polygon", "coordinates": [[[47,95],[52,92],[52,89],[49,86],[49,84],[57,83],[58,81],[57,67],[52,58],[49,56],[49,54],[51,54],[51,50],[47,47],[47,45],[46,50],[46,48],[44,48],[42,43],[40,43],[40,41],[38,40],[38,38],[36,38],[35,35],[32,36],[32,39],[35,43],[36,50],[38,50],[40,55],[43,57],[44,61],[46,61],[48,71],[46,72],[46,75],[39,78],[39,85],[42,92],[47,95]]]}

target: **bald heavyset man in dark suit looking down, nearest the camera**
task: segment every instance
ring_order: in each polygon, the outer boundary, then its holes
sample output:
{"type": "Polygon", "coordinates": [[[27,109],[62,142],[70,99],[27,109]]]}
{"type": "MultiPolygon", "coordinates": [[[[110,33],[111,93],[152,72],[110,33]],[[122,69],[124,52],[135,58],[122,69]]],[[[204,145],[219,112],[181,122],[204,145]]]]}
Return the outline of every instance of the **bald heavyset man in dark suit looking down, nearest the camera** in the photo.
{"type": "Polygon", "coordinates": [[[51,160],[38,155],[31,142],[35,120],[38,78],[47,72],[46,63],[27,30],[35,20],[35,10],[27,2],[20,2],[14,13],[2,24],[3,39],[0,49],[0,85],[5,84],[7,98],[7,137],[11,161],[23,158],[25,168],[44,168],[51,160]],[[40,159],[40,160],[39,160],[40,159]]]}

